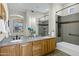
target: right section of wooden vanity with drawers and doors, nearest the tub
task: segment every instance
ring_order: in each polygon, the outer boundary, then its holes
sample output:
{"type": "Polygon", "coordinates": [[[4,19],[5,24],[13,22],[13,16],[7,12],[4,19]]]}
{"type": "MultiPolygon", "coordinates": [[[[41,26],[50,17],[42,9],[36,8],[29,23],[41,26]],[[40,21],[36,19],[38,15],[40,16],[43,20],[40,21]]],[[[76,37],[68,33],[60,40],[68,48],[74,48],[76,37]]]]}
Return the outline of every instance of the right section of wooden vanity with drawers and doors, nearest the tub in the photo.
{"type": "Polygon", "coordinates": [[[54,51],[56,48],[56,39],[49,38],[44,40],[38,40],[33,42],[33,56],[45,55],[54,51]]]}

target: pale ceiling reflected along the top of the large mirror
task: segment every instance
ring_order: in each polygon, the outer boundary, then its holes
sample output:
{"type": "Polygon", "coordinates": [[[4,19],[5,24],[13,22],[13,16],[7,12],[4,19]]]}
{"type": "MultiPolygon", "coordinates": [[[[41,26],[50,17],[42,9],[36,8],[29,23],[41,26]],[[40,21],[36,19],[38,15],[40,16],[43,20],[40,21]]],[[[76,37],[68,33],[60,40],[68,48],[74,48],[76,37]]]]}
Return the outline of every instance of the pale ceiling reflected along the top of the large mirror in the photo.
{"type": "Polygon", "coordinates": [[[36,12],[45,13],[48,11],[48,3],[8,3],[9,11],[21,11],[33,10],[36,12]]]}

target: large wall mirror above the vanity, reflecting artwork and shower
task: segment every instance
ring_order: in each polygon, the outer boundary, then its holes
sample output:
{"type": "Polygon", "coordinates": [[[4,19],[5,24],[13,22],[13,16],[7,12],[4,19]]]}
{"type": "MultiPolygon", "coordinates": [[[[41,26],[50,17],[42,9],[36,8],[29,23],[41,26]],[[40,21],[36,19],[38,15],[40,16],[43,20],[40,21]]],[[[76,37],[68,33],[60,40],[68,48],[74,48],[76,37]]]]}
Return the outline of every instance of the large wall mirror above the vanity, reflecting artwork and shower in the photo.
{"type": "Polygon", "coordinates": [[[10,35],[47,36],[49,4],[8,3],[10,35]]]}

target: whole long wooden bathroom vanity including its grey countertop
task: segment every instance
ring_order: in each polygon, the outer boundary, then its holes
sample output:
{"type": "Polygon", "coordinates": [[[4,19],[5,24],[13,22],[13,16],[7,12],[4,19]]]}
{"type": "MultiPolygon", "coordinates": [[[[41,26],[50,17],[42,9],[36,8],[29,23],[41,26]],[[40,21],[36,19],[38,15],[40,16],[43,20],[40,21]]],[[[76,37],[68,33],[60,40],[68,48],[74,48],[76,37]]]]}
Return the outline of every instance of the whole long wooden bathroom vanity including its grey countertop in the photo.
{"type": "Polygon", "coordinates": [[[39,56],[56,48],[55,37],[23,39],[22,42],[7,42],[0,45],[1,56],[39,56]]]}

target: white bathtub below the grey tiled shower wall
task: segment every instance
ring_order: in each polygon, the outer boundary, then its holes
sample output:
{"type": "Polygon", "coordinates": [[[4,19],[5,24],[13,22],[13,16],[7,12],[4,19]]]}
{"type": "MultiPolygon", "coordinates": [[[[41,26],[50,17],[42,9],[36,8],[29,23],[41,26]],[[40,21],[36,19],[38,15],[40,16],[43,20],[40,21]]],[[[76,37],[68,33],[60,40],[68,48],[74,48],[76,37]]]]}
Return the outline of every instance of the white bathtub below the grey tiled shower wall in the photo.
{"type": "Polygon", "coordinates": [[[79,46],[67,42],[59,42],[57,43],[58,50],[61,50],[71,56],[79,56],[79,46]]]}

